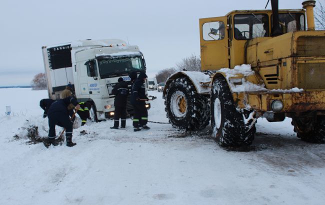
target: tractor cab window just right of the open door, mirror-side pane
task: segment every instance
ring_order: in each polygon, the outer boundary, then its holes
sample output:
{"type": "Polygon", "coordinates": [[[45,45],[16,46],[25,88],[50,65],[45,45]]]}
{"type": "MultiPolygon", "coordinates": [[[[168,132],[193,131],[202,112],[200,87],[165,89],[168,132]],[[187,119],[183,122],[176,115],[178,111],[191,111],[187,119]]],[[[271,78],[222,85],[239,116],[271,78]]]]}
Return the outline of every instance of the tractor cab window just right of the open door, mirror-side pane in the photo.
{"type": "Polygon", "coordinates": [[[269,36],[267,14],[236,14],[234,15],[233,36],[237,40],[269,36]]]}

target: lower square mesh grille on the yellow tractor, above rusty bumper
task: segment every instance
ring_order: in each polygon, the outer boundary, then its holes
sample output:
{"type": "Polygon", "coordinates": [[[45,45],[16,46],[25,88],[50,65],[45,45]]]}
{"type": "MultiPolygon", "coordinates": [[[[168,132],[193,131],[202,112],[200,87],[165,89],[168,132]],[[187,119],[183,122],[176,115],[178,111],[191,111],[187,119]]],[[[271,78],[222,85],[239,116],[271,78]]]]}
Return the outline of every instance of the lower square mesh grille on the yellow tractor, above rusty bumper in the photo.
{"type": "Polygon", "coordinates": [[[325,63],[298,63],[298,88],[325,89],[325,63]]]}

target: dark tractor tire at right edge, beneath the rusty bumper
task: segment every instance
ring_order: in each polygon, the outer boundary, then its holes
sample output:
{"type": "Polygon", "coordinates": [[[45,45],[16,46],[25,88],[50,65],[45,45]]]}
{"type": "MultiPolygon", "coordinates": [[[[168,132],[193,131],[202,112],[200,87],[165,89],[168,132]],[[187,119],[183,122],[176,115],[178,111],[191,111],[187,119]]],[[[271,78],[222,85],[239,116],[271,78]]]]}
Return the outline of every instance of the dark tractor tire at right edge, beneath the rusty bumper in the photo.
{"type": "Polygon", "coordinates": [[[325,118],[317,117],[293,117],[291,124],[297,137],[303,141],[325,143],[325,118]]]}

